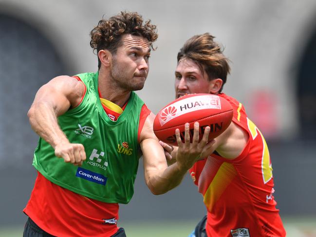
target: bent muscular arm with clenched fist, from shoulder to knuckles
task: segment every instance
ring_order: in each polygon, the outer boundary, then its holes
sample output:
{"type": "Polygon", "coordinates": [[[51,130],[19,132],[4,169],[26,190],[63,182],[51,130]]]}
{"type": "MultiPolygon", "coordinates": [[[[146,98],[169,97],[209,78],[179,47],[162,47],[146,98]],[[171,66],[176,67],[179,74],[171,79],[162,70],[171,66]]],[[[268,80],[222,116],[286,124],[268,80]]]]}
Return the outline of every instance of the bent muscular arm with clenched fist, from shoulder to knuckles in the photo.
{"type": "Polygon", "coordinates": [[[57,117],[76,107],[84,91],[82,82],[70,76],[58,76],[37,91],[28,111],[32,129],[55,149],[56,156],[74,164],[81,164],[83,146],[69,145],[69,140],[59,128],[57,117]],[[66,152],[65,149],[73,152],[66,152]]]}

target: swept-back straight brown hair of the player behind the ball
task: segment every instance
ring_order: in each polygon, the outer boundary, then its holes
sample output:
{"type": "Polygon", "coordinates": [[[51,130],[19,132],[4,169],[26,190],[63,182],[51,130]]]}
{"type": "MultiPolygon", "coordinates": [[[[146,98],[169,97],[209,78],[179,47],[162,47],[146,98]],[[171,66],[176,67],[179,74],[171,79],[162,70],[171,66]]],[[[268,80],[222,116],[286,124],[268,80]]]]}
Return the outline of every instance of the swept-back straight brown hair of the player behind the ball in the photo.
{"type": "MultiPolygon", "coordinates": [[[[177,59],[178,63],[186,58],[193,60],[202,72],[205,70],[209,80],[221,78],[224,85],[230,73],[229,59],[223,55],[222,47],[214,38],[209,33],[189,38],[180,49],[177,59]]],[[[223,90],[223,85],[219,92],[223,90]]]]}

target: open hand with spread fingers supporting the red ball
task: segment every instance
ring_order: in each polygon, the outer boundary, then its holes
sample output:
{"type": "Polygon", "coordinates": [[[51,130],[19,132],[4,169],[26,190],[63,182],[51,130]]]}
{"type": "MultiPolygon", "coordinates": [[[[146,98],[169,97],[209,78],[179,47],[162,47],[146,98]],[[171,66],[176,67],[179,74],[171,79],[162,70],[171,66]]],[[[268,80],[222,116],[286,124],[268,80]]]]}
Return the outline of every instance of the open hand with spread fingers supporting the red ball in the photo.
{"type": "Polygon", "coordinates": [[[179,147],[176,155],[176,161],[182,169],[188,170],[201,157],[207,157],[212,153],[212,146],[214,145],[215,140],[208,141],[210,127],[207,126],[205,128],[203,138],[200,142],[199,129],[199,123],[195,122],[192,143],[190,143],[190,131],[188,123],[186,123],[185,125],[184,143],[182,142],[180,137],[180,130],[176,129],[175,134],[179,147]]]}

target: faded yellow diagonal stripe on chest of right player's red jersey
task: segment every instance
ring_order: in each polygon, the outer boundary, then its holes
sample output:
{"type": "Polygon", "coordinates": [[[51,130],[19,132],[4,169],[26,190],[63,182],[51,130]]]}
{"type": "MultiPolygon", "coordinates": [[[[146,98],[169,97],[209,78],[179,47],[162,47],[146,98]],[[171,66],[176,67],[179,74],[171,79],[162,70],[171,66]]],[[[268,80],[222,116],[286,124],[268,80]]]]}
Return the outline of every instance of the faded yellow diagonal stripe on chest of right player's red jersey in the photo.
{"type": "Polygon", "coordinates": [[[237,171],[233,164],[223,162],[221,167],[218,169],[213,181],[208,186],[204,194],[204,203],[207,210],[210,212],[212,207],[218,201],[228,184],[232,182],[234,177],[237,175],[237,171]]]}

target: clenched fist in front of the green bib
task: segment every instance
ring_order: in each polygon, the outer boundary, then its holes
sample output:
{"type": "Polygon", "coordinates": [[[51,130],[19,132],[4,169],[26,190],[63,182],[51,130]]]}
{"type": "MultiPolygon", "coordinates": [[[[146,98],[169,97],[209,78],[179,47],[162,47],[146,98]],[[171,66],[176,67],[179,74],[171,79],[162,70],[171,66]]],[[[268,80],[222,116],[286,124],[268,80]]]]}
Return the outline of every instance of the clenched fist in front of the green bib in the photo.
{"type": "Polygon", "coordinates": [[[86,160],[86,152],[82,144],[66,143],[57,145],[55,155],[63,158],[66,163],[79,166],[86,160]]]}

